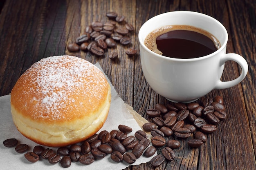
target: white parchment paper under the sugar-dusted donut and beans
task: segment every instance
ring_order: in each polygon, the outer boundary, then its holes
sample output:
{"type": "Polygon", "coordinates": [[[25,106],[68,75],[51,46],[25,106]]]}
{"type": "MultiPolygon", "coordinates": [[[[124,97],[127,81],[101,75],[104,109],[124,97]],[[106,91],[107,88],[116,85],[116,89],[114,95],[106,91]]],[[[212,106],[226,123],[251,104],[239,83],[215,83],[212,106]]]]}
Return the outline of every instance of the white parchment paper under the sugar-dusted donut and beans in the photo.
{"type": "MultiPolygon", "coordinates": [[[[95,64],[99,69],[101,69],[100,65],[97,63],[95,64]]],[[[101,69],[102,71],[102,69],[101,69]]],[[[103,71],[102,71],[103,72],[103,71]]],[[[104,72],[103,72],[104,73],[104,72]]],[[[106,76],[108,79],[108,77],[106,76]]],[[[110,83],[110,81],[108,80],[110,83]]],[[[108,130],[110,132],[111,130],[118,130],[118,125],[127,125],[132,128],[132,132],[128,134],[134,135],[134,133],[137,130],[141,130],[141,127],[135,120],[135,114],[130,113],[127,105],[124,103],[124,101],[121,100],[117,92],[115,91],[115,88],[111,86],[111,104],[110,104],[110,110],[108,114],[108,118],[106,120],[106,123],[103,125],[100,131],[102,130],[108,130]]],[[[16,138],[20,143],[25,143],[29,145],[29,150],[28,151],[33,151],[34,146],[38,145],[37,143],[34,143],[33,141],[25,138],[18,130],[16,129],[15,125],[13,124],[12,121],[12,116],[11,116],[11,109],[10,109],[10,95],[6,96],[1,96],[0,97],[0,169],[1,170],[26,170],[26,169],[35,169],[35,170],[45,170],[45,169],[51,169],[51,170],[59,170],[61,169],[60,163],[57,163],[55,165],[52,165],[48,162],[46,159],[40,158],[39,161],[36,163],[30,163],[25,159],[24,154],[19,154],[15,151],[15,147],[13,148],[7,148],[3,145],[3,141],[5,139],[9,138],[16,138]]],[[[131,109],[130,109],[131,110],[131,109]]],[[[137,118],[139,114],[137,114],[137,118]]],[[[140,116],[140,115],[139,115],[140,116]]],[[[141,116],[140,116],[141,117],[141,116]]],[[[142,118],[142,117],[141,117],[142,118]]],[[[142,120],[139,118],[140,120],[142,120]]],[[[151,145],[151,144],[150,144],[151,145]]],[[[51,148],[51,147],[46,147],[45,148],[51,148]]],[[[52,148],[55,152],[57,151],[58,148],[52,148]]],[[[156,155],[156,153],[155,153],[156,155]]],[[[154,155],[154,156],[155,156],[154,155]]],[[[152,156],[153,157],[153,156],[152,156]]],[[[101,160],[95,160],[92,164],[90,165],[83,165],[80,162],[72,162],[71,166],[67,169],[70,170],[121,170],[124,169],[130,165],[138,165],[141,163],[146,163],[150,161],[152,158],[146,158],[143,155],[136,160],[135,163],[133,164],[128,164],[125,161],[116,163],[115,161],[112,161],[110,158],[110,154],[107,154],[105,158],[101,160]]]]}

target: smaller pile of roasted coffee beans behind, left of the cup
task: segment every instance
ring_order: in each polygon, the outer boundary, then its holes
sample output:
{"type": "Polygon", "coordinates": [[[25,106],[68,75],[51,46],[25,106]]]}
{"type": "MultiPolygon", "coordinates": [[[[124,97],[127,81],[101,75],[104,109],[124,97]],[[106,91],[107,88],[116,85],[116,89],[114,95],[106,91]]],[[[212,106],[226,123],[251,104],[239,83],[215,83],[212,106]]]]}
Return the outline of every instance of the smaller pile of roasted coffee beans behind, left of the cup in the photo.
{"type": "MultiPolygon", "coordinates": [[[[109,48],[117,47],[117,44],[128,45],[132,42],[129,34],[134,27],[125,21],[124,16],[118,16],[115,12],[106,13],[108,22],[94,21],[88,25],[84,33],[77,37],[75,42],[67,45],[67,49],[74,51],[90,51],[95,56],[103,56],[109,48]]],[[[126,50],[128,56],[137,54],[137,49],[131,47],[126,50]]],[[[118,52],[108,54],[110,59],[118,58],[118,52]]]]}

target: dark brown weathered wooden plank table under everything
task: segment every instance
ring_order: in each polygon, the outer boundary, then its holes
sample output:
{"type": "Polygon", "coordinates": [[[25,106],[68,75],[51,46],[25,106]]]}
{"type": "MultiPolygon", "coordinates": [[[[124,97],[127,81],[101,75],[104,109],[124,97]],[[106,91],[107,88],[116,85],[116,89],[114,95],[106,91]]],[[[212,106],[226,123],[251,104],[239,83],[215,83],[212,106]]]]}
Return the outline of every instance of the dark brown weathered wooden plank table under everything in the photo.
{"type": "MultiPolygon", "coordinates": [[[[175,159],[153,168],[150,163],[128,169],[256,169],[256,1],[255,0],[0,0],[0,96],[9,94],[19,76],[33,63],[48,56],[69,54],[101,65],[125,103],[149,121],[145,114],[157,103],[170,103],[147,84],[141,69],[138,31],[153,16],[168,11],[198,11],[212,16],[227,28],[227,52],[247,60],[249,72],[238,85],[213,90],[205,97],[223,96],[227,119],[209,134],[200,148],[186,140],[175,150],[175,159]],[[134,25],[132,43],[118,45],[118,60],[96,57],[90,52],[70,52],[67,45],[83,34],[93,21],[106,22],[106,12],[115,11],[134,25]],[[138,49],[128,57],[125,50],[138,49]]],[[[238,77],[240,67],[225,65],[223,81],[238,77]]],[[[2,139],[1,139],[2,140],[2,139]]]]}

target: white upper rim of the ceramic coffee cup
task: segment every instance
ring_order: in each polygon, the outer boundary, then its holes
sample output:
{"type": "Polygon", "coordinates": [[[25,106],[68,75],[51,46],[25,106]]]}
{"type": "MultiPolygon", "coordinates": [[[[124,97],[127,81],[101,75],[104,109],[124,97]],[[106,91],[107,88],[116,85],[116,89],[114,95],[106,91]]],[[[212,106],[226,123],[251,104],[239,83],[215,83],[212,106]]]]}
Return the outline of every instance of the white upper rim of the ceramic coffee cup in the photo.
{"type": "MultiPolygon", "coordinates": [[[[205,59],[205,58],[209,58],[211,56],[214,56],[216,55],[217,53],[219,53],[220,51],[222,51],[224,48],[226,48],[227,46],[227,41],[228,41],[228,34],[227,34],[227,29],[224,27],[224,25],[222,25],[222,23],[218,20],[216,20],[215,18],[211,17],[211,16],[208,16],[204,13],[200,13],[200,12],[195,12],[195,11],[170,11],[170,12],[165,12],[165,13],[161,13],[157,16],[154,16],[152,18],[150,18],[149,20],[147,20],[146,22],[144,22],[144,24],[140,27],[139,29],[139,33],[138,33],[138,38],[139,38],[139,44],[141,47],[143,47],[148,53],[150,54],[154,54],[155,56],[159,57],[159,58],[162,58],[162,59],[166,59],[166,60],[175,60],[175,61],[195,61],[195,60],[202,60],[202,59],[205,59]],[[207,17],[211,20],[214,20],[218,25],[220,25],[220,27],[222,27],[222,29],[225,31],[225,35],[226,35],[226,38],[224,40],[224,43],[223,45],[221,45],[221,47],[219,49],[217,49],[216,51],[214,51],[213,53],[211,54],[208,54],[206,56],[201,56],[201,57],[197,57],[197,58],[173,58],[173,57],[167,57],[167,56],[163,56],[163,55],[160,55],[160,54],[157,54],[153,51],[151,51],[150,49],[148,49],[148,47],[146,47],[146,45],[144,44],[144,41],[142,40],[142,37],[141,37],[141,28],[145,27],[145,24],[146,22],[150,21],[150,20],[153,20],[155,18],[159,18],[159,17],[162,17],[162,16],[165,16],[165,15],[168,15],[168,13],[187,13],[187,14],[195,14],[195,15],[202,15],[204,17],[207,17]]],[[[153,29],[155,30],[155,29],[153,29]]],[[[152,31],[153,31],[152,30],[152,31]]]]}

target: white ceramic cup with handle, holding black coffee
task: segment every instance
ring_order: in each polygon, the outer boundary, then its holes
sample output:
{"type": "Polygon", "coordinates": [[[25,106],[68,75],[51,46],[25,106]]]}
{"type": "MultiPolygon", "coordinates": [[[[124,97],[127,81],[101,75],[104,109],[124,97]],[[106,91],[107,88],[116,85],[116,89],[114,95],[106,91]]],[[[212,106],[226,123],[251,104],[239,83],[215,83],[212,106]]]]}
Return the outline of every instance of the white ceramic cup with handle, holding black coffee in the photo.
{"type": "Polygon", "coordinates": [[[192,11],[162,13],[144,23],[139,30],[141,67],[146,81],[158,94],[173,102],[189,103],[213,89],[225,89],[240,83],[248,72],[246,60],[234,53],[226,54],[228,34],[216,19],[192,11]],[[150,32],[166,25],[190,25],[204,29],[216,37],[221,47],[207,56],[191,59],[170,58],[150,51],[144,40],[150,32]],[[227,60],[242,68],[232,81],[220,81],[227,60]]]}

